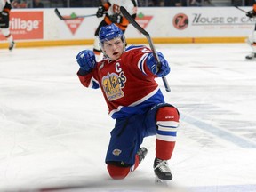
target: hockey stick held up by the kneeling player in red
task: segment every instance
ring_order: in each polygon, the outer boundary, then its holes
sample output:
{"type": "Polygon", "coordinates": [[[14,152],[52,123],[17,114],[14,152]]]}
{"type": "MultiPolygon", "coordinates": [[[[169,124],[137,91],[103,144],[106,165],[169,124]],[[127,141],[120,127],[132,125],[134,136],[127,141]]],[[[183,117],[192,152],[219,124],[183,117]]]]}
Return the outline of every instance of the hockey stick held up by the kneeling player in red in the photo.
{"type": "MultiPolygon", "coordinates": [[[[158,55],[156,54],[155,46],[154,46],[153,41],[152,41],[150,35],[148,34],[148,32],[146,30],[144,30],[144,28],[140,27],[140,25],[132,18],[132,15],[129,12],[127,12],[127,10],[123,6],[120,7],[120,11],[124,15],[124,17],[127,20],[129,20],[129,22],[132,24],[132,26],[134,28],[137,28],[140,31],[140,33],[142,33],[144,36],[146,36],[146,38],[148,40],[148,44],[149,44],[149,46],[150,46],[150,48],[151,48],[151,50],[154,54],[154,57],[157,60],[157,68],[161,68],[162,64],[161,64],[161,62],[158,58],[158,55]]],[[[165,87],[166,92],[171,92],[170,86],[169,86],[165,76],[163,76],[162,79],[163,79],[163,82],[164,82],[164,87],[165,87]]]]}

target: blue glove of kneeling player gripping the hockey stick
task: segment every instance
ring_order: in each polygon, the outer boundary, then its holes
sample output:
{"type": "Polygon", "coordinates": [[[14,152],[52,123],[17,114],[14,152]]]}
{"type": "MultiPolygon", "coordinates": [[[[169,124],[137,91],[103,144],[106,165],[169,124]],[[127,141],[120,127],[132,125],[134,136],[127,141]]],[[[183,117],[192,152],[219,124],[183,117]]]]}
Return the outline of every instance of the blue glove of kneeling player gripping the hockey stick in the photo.
{"type": "Polygon", "coordinates": [[[146,60],[146,64],[149,68],[149,70],[156,76],[162,77],[166,76],[167,74],[170,73],[170,67],[167,62],[167,60],[164,59],[164,55],[161,52],[156,52],[158,55],[158,58],[161,62],[161,68],[158,68],[157,66],[157,60],[154,57],[153,52],[150,52],[148,54],[148,58],[146,60]]]}

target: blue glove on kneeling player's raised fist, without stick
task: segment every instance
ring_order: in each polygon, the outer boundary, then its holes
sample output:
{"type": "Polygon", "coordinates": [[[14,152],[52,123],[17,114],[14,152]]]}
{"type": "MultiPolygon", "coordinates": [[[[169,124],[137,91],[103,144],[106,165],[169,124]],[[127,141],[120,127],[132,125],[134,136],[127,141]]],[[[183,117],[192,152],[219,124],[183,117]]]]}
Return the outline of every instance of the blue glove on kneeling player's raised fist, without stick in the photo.
{"type": "Polygon", "coordinates": [[[85,73],[90,73],[96,66],[95,54],[91,50],[83,50],[76,55],[76,61],[85,73]]]}

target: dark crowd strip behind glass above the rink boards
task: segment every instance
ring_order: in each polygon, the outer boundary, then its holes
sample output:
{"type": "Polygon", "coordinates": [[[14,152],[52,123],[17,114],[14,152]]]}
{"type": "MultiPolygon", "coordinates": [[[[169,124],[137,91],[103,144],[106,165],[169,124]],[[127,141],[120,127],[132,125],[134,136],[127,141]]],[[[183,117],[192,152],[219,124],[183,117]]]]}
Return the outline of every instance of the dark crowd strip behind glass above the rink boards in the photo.
{"type": "MultiPolygon", "coordinates": [[[[106,0],[11,0],[12,8],[98,7],[106,0]]],[[[138,0],[139,7],[252,6],[254,0],[138,0]]]]}

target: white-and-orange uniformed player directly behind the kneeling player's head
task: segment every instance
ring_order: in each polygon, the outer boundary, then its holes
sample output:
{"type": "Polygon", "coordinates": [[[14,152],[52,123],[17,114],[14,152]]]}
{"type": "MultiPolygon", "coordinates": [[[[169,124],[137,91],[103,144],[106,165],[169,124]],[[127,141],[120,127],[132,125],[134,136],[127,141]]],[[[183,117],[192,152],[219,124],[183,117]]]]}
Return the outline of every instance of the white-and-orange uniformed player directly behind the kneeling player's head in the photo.
{"type": "Polygon", "coordinates": [[[108,0],[105,4],[100,5],[96,16],[98,18],[103,17],[106,12],[104,19],[101,20],[98,28],[95,31],[95,39],[93,44],[93,52],[96,54],[96,57],[100,59],[100,42],[99,42],[99,31],[102,26],[107,26],[111,23],[115,23],[117,27],[121,28],[123,32],[125,32],[128,27],[129,21],[123,17],[120,12],[120,6],[124,6],[124,8],[132,15],[132,17],[136,18],[137,13],[137,0],[108,0]]]}

